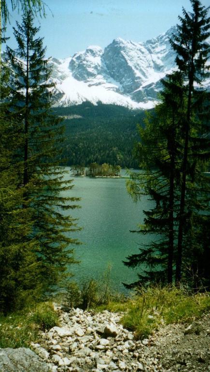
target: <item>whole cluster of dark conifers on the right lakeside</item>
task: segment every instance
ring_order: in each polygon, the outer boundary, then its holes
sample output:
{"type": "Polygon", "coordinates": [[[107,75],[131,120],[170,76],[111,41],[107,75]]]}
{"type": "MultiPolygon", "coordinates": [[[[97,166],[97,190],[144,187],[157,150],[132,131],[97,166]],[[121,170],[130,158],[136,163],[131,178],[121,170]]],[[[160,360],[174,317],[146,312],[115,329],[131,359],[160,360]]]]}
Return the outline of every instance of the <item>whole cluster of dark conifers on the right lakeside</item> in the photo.
{"type": "Polygon", "coordinates": [[[202,90],[202,80],[208,75],[205,40],[210,18],[200,1],[191,4],[193,12],[183,9],[181,26],[171,41],[178,71],[163,81],[156,116],[140,129],[143,143],[137,151],[144,171],[132,174],[128,186],[134,198],[143,192],[154,201],[154,208],[144,212],[139,232],[153,233],[156,239],[125,262],[128,267],[144,263],[139,283],[179,283],[183,274],[186,278],[190,273],[197,285],[205,271],[200,270],[202,259],[208,256],[208,241],[203,240],[209,211],[209,180],[204,174],[209,158],[208,94],[202,90]],[[198,252],[202,258],[196,262],[198,252]]]}

